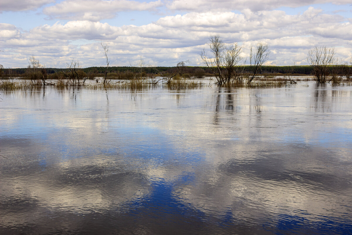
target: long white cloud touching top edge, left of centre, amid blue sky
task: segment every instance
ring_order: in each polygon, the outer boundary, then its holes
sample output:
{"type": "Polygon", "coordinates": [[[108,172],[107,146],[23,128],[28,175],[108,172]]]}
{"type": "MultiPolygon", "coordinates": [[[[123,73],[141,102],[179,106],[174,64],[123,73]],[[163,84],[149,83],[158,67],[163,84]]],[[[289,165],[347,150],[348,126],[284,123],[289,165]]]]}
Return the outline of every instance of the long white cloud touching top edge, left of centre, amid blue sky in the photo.
{"type": "Polygon", "coordinates": [[[114,18],[118,12],[123,11],[157,11],[157,8],[163,5],[161,0],[65,0],[44,8],[43,13],[50,18],[99,21],[114,18]]]}

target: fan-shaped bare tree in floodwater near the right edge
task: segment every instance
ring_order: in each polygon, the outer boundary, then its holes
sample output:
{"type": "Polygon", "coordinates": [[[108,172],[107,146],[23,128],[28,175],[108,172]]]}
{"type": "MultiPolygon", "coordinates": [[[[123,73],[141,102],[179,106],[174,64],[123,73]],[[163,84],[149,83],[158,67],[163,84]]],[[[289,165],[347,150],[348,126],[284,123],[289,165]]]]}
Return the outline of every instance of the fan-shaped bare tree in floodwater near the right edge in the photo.
{"type": "Polygon", "coordinates": [[[307,60],[313,67],[314,80],[322,84],[329,75],[329,66],[334,62],[335,49],[325,46],[315,47],[308,51],[307,60]]]}

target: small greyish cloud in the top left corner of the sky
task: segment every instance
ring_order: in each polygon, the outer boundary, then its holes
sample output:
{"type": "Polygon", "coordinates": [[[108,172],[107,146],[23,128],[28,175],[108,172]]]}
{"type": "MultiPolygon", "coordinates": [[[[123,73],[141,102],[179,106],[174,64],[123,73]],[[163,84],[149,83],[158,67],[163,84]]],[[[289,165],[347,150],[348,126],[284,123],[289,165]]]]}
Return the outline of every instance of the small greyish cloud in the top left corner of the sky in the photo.
{"type": "Polygon", "coordinates": [[[55,2],[54,0],[1,0],[0,12],[2,11],[27,11],[42,7],[45,4],[55,2]]]}

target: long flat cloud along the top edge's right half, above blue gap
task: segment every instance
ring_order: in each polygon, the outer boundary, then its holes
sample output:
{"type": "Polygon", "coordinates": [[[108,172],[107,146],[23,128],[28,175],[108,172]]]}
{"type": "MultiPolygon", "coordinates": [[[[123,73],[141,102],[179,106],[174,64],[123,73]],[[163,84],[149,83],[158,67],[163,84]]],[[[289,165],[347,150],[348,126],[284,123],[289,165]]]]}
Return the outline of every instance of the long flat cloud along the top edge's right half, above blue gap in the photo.
{"type": "MultiPolygon", "coordinates": [[[[204,11],[232,11],[232,10],[244,10],[250,9],[251,11],[263,11],[263,10],[273,10],[279,7],[300,7],[307,6],[311,4],[323,4],[331,2],[328,0],[298,0],[298,1],[277,1],[277,0],[174,0],[171,1],[167,7],[170,10],[177,11],[195,11],[195,12],[204,12],[204,11]]],[[[334,1],[333,4],[350,4],[348,0],[339,0],[334,1]]]]}

